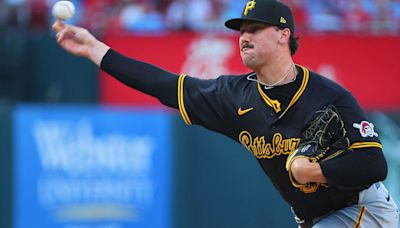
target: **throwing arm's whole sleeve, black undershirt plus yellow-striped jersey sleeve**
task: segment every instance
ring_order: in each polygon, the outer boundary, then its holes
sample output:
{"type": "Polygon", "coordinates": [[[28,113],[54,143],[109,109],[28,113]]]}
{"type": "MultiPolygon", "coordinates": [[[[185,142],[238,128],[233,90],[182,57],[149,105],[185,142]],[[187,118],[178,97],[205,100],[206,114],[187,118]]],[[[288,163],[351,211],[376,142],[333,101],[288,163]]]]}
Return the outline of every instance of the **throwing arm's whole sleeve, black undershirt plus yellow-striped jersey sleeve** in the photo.
{"type": "Polygon", "coordinates": [[[128,58],[110,49],[101,69],[123,84],[158,98],[161,103],[178,108],[186,124],[202,125],[227,134],[229,101],[233,76],[200,80],[176,75],[154,65],[128,58]]]}

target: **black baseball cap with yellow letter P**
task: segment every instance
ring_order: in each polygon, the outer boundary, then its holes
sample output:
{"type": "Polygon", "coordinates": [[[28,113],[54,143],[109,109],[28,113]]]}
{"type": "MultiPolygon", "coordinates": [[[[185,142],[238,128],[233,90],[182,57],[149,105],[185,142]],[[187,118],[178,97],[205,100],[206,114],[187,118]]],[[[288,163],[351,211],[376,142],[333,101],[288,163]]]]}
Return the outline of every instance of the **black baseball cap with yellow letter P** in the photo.
{"type": "Polygon", "coordinates": [[[264,22],[281,28],[289,28],[294,33],[294,19],[290,8],[276,0],[249,0],[243,10],[242,17],[225,22],[225,26],[240,30],[245,21],[264,22]]]}

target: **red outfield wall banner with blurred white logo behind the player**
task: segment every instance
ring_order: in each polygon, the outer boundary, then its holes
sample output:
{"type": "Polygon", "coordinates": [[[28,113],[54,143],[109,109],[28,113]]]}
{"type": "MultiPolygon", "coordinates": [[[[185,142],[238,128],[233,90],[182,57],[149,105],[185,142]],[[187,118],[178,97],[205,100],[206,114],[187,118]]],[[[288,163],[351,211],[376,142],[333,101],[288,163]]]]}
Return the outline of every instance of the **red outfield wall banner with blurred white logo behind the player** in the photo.
{"type": "MultiPolygon", "coordinates": [[[[193,33],[162,36],[113,36],[107,43],[126,56],[176,74],[201,79],[250,72],[239,54],[239,33],[210,36],[193,33]]],[[[296,63],[343,85],[367,110],[398,110],[399,37],[301,36],[296,63]]],[[[100,98],[106,104],[161,106],[161,103],[118,82],[100,77],[100,98]]]]}

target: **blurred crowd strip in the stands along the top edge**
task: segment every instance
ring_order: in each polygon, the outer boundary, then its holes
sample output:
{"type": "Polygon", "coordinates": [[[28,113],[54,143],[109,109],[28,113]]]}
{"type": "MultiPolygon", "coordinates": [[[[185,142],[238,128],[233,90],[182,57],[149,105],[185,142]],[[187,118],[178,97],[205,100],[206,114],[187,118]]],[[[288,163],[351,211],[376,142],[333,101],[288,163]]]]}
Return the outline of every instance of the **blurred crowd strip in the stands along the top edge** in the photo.
{"type": "MultiPolygon", "coordinates": [[[[48,31],[56,0],[0,0],[0,27],[48,31]]],[[[247,0],[72,0],[70,23],[94,33],[227,32],[247,0]]],[[[299,33],[400,34],[400,0],[283,0],[299,33]]]]}

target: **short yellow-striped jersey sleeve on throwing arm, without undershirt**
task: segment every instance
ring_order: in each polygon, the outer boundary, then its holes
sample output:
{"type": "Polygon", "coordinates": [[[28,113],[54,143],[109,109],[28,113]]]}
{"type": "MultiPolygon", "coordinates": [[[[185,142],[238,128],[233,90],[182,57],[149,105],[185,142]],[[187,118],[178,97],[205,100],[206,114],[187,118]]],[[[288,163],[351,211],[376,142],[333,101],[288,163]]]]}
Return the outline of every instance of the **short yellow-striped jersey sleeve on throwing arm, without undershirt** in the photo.
{"type": "Polygon", "coordinates": [[[227,134],[230,94],[228,76],[200,80],[181,75],[178,79],[178,107],[187,125],[201,125],[207,129],[227,134]]]}

